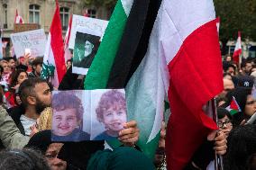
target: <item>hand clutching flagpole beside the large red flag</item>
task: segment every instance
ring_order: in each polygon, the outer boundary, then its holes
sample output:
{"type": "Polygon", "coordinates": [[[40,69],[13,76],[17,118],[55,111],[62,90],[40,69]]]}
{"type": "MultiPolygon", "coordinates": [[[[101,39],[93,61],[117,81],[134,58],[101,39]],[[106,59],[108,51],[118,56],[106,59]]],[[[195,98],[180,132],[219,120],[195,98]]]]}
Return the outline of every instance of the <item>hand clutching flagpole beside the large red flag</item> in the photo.
{"type": "Polygon", "coordinates": [[[215,152],[218,155],[223,156],[226,153],[227,140],[225,139],[224,132],[214,131],[208,135],[208,140],[215,140],[215,152]],[[213,139],[214,136],[215,136],[215,138],[213,139]]]}

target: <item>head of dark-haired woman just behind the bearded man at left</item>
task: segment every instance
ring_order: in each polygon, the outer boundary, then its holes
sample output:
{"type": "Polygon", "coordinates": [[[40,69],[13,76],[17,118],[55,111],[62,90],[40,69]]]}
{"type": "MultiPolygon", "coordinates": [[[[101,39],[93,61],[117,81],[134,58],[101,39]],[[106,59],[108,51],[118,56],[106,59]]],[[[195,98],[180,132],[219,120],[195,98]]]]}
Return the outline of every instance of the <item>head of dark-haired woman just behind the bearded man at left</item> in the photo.
{"type": "Polygon", "coordinates": [[[28,74],[23,69],[17,69],[15,70],[10,79],[10,85],[9,87],[12,88],[15,85],[21,85],[24,80],[28,79],[28,74]]]}

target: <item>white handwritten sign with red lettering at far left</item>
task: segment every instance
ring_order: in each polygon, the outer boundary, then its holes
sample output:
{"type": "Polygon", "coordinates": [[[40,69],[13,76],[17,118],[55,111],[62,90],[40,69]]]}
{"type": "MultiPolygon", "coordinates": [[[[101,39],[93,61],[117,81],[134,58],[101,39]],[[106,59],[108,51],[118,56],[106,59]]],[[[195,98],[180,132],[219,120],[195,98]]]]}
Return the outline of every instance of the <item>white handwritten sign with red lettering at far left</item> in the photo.
{"type": "Polygon", "coordinates": [[[11,40],[17,58],[24,55],[25,49],[31,50],[32,57],[44,55],[46,36],[42,29],[13,33],[11,34],[11,40]]]}

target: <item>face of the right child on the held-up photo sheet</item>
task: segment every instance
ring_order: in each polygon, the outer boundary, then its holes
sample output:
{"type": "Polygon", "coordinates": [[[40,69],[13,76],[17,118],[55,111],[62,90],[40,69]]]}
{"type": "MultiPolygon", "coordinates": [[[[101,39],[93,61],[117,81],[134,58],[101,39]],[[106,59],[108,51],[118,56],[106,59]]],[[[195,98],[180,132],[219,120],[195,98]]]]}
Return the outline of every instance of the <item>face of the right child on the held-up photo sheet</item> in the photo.
{"type": "Polygon", "coordinates": [[[126,111],[118,105],[110,107],[103,114],[105,128],[112,131],[123,130],[123,123],[126,122],[126,111]]]}

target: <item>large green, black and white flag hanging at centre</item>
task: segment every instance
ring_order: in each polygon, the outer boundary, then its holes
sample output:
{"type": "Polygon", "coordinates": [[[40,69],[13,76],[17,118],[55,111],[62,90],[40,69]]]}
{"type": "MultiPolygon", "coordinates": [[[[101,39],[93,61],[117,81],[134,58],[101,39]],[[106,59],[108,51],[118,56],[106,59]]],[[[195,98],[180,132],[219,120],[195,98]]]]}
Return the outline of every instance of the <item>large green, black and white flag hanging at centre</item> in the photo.
{"type": "MultiPolygon", "coordinates": [[[[160,1],[119,0],[85,80],[86,89],[126,87],[128,119],[138,122],[141,130],[138,145],[151,158],[160,138],[165,94],[163,82],[158,78],[158,71],[147,70],[151,76],[145,76],[145,81],[138,81],[142,78],[142,71],[138,70],[141,73],[136,76],[133,73],[147,51],[159,7],[160,1]],[[128,81],[130,85],[127,85],[128,81]],[[142,85],[133,89],[134,82],[142,85]],[[159,88],[155,88],[157,84],[159,88]]],[[[151,70],[150,67],[147,69],[151,70]]]]}

